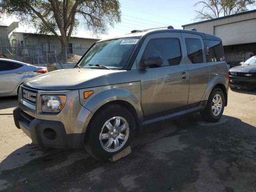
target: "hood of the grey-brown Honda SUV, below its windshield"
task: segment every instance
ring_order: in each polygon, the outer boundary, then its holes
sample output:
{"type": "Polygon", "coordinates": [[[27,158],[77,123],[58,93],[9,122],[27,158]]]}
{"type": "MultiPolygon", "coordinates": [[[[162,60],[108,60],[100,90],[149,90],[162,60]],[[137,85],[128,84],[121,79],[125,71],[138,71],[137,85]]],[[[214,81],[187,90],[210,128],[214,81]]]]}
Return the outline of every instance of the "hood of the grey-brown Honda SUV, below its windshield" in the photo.
{"type": "Polygon", "coordinates": [[[40,90],[74,90],[139,81],[137,70],[62,69],[27,80],[24,85],[40,90]]]}

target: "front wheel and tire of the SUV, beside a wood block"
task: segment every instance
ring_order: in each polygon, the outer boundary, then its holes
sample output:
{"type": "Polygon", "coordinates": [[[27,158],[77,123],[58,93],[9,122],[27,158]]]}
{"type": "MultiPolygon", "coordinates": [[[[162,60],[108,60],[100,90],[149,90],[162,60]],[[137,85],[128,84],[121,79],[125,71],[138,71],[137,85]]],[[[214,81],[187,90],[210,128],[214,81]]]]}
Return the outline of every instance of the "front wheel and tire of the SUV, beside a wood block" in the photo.
{"type": "Polygon", "coordinates": [[[97,111],[90,120],[86,130],[84,148],[97,160],[107,160],[130,145],[135,128],[134,116],[127,108],[119,104],[106,105],[97,111]],[[118,124],[116,124],[118,119],[120,121],[119,127],[115,126],[118,124]],[[125,130],[120,132],[124,128],[125,130]],[[121,134],[122,138],[125,138],[124,140],[120,138],[121,134]],[[101,136],[108,138],[99,139],[102,138],[101,136]],[[107,143],[111,143],[111,145],[106,147],[107,143]],[[117,147],[118,143],[119,147],[117,147]]]}

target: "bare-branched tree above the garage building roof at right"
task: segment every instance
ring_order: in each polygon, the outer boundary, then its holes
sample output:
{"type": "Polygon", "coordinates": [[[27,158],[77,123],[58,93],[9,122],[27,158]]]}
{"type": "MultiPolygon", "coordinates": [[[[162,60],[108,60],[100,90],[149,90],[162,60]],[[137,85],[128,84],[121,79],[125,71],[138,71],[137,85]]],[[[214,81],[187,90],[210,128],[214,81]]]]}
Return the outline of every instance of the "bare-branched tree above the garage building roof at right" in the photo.
{"type": "Polygon", "coordinates": [[[254,6],[255,0],[202,0],[194,6],[202,5],[195,20],[208,20],[247,11],[247,6],[254,6]]]}

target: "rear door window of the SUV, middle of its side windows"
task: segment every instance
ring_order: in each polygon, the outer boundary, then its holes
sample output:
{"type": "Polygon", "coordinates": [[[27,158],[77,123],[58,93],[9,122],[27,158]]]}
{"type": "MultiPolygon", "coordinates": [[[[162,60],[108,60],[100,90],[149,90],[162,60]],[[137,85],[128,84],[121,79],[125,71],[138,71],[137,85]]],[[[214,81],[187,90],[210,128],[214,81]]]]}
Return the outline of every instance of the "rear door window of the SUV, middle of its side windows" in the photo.
{"type": "Polygon", "coordinates": [[[203,63],[204,56],[200,39],[185,38],[188,58],[192,63],[203,63]]]}

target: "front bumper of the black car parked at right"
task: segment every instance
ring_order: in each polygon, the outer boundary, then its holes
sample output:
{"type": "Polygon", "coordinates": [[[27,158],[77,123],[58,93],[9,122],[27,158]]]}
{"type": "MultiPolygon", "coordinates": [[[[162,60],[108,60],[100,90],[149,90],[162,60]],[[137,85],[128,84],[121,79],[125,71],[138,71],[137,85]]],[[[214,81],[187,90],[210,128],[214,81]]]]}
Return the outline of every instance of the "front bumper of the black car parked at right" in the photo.
{"type": "Polygon", "coordinates": [[[230,76],[230,88],[256,89],[256,78],[230,76]]]}

